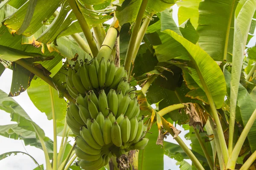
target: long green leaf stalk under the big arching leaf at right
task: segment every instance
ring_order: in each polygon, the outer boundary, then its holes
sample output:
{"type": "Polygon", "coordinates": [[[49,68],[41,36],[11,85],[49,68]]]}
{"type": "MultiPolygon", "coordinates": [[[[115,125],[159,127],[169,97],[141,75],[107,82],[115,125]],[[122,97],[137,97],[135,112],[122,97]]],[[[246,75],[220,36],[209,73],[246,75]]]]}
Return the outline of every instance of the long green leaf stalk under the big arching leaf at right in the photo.
{"type": "MultiPolygon", "coordinates": [[[[196,63],[195,59],[193,57],[190,57],[190,59],[192,60],[193,63],[196,63]]],[[[204,77],[203,77],[200,69],[198,68],[198,65],[196,65],[196,64],[195,64],[195,69],[196,69],[197,74],[198,74],[198,76],[199,76],[199,78],[201,80],[201,83],[203,85],[205,94],[206,94],[207,99],[209,101],[209,105],[210,105],[210,108],[211,108],[212,116],[214,118],[214,121],[215,121],[215,124],[216,124],[216,128],[217,128],[217,131],[218,131],[218,133],[216,135],[218,135],[219,144],[221,146],[221,153],[223,155],[225,164],[227,164],[229,154],[228,154],[228,150],[227,150],[226,141],[225,141],[225,138],[224,138],[224,132],[223,132],[222,127],[221,127],[221,121],[220,121],[220,119],[218,117],[218,113],[217,113],[215,104],[213,102],[212,95],[211,95],[211,93],[209,91],[209,88],[208,88],[206,82],[204,81],[204,77]]]]}

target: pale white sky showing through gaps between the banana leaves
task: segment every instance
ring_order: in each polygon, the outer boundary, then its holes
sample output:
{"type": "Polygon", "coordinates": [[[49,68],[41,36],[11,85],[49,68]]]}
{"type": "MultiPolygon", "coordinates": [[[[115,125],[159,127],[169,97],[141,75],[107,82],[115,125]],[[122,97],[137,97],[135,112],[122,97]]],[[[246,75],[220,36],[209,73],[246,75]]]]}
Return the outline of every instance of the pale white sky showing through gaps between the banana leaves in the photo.
{"type": "MultiPolygon", "coordinates": [[[[177,19],[177,5],[173,8],[173,18],[175,23],[178,25],[177,19]]],[[[250,41],[249,46],[255,45],[256,37],[253,37],[250,41]]],[[[2,76],[0,77],[0,89],[9,94],[11,83],[12,83],[12,70],[6,69],[2,76]]],[[[27,92],[21,93],[19,96],[13,97],[15,101],[28,113],[31,119],[39,125],[45,132],[45,135],[48,136],[50,139],[53,140],[53,125],[52,120],[48,120],[45,113],[41,113],[32,101],[29,99],[27,92]]],[[[11,122],[11,118],[9,113],[0,110],[0,125],[8,125],[13,124],[15,122],[11,122]]],[[[189,144],[191,142],[184,138],[184,135],[188,133],[188,130],[184,130],[182,127],[177,125],[177,129],[181,130],[180,133],[181,139],[186,143],[186,145],[190,147],[189,144]]],[[[74,139],[69,138],[70,144],[73,144],[74,139]]],[[[168,136],[166,141],[168,142],[177,142],[172,138],[172,136],[168,136]]],[[[60,146],[61,137],[57,138],[58,147],[60,146]]],[[[45,164],[44,153],[41,149],[32,146],[25,146],[22,140],[14,140],[9,139],[3,136],[0,136],[0,154],[10,152],[10,151],[22,151],[29,153],[33,156],[39,164],[45,164]]],[[[186,160],[191,164],[190,160],[186,160]]],[[[164,170],[179,170],[178,166],[176,165],[174,159],[170,159],[168,156],[164,156],[164,170]]],[[[36,167],[36,164],[32,161],[29,156],[26,155],[17,155],[17,156],[10,156],[6,159],[0,161],[1,170],[33,170],[36,167]]]]}

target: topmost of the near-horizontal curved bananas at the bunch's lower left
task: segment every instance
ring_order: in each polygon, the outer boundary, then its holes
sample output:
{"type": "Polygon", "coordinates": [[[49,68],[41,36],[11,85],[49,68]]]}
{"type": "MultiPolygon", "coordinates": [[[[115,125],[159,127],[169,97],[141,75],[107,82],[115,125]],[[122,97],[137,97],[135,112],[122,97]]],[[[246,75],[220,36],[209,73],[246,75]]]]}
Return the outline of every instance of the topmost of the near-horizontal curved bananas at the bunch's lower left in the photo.
{"type": "Polygon", "coordinates": [[[85,142],[85,140],[79,136],[76,136],[76,145],[85,153],[90,155],[99,155],[101,153],[101,150],[94,149],[93,147],[90,147],[89,144],[85,142]]]}

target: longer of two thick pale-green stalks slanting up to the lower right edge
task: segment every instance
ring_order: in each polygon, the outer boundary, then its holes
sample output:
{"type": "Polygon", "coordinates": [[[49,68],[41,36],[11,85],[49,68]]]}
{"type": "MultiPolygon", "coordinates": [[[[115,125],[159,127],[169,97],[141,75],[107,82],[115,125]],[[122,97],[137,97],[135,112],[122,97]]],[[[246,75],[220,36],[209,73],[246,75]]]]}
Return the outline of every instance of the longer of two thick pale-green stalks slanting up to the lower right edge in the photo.
{"type": "Polygon", "coordinates": [[[247,124],[244,126],[244,130],[242,131],[241,135],[239,136],[238,141],[236,142],[236,145],[232,151],[232,154],[230,155],[230,158],[227,163],[226,168],[234,169],[236,166],[236,160],[239,156],[240,150],[244,144],[244,141],[250,131],[250,128],[253,126],[253,123],[256,119],[256,109],[253,111],[253,114],[250,116],[250,119],[248,120],[247,124]]]}

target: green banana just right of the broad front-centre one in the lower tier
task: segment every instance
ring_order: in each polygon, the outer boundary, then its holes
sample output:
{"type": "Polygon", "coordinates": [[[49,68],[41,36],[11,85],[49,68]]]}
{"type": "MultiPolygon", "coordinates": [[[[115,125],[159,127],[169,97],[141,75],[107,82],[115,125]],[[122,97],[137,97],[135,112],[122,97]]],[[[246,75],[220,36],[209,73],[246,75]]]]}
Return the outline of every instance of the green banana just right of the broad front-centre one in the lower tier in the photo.
{"type": "Polygon", "coordinates": [[[120,129],[121,129],[122,142],[124,143],[128,142],[131,134],[131,122],[127,116],[125,116],[124,119],[122,119],[120,123],[120,129]]]}

